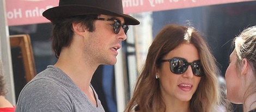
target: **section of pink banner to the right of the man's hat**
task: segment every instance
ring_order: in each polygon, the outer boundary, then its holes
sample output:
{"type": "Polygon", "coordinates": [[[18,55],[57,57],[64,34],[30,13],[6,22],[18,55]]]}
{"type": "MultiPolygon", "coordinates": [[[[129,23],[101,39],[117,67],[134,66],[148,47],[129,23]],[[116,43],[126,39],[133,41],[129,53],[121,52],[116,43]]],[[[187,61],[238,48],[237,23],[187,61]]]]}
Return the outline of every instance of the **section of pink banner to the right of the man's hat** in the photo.
{"type": "Polygon", "coordinates": [[[160,11],[253,0],[123,0],[125,13],[160,11]]]}

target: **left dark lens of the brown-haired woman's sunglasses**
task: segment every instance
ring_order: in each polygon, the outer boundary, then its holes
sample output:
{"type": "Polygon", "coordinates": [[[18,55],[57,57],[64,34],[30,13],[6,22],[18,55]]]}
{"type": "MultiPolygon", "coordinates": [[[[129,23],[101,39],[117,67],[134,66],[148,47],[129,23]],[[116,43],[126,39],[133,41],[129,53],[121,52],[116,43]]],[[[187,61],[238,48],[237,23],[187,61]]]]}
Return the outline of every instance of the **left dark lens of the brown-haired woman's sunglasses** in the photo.
{"type": "Polygon", "coordinates": [[[184,59],[174,58],[170,60],[170,71],[175,74],[182,74],[187,70],[187,61],[184,59]]]}

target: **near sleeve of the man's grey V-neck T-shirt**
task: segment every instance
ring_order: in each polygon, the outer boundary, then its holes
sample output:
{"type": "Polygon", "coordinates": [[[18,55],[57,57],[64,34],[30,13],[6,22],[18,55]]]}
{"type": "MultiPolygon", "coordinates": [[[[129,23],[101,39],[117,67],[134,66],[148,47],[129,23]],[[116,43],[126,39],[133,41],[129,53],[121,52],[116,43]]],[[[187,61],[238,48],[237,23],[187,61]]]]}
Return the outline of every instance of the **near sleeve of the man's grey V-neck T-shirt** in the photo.
{"type": "Polygon", "coordinates": [[[16,112],[72,111],[68,90],[47,79],[34,80],[23,88],[16,112]]]}

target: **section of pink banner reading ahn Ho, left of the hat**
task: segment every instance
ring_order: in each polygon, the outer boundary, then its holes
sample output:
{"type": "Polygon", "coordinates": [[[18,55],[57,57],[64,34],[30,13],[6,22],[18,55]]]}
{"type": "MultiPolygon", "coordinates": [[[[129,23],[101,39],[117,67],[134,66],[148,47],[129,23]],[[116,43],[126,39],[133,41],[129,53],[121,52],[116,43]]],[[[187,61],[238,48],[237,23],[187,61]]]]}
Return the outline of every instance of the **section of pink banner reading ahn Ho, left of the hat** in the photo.
{"type": "Polygon", "coordinates": [[[49,22],[42,12],[58,5],[56,0],[6,0],[5,3],[8,26],[49,22]]]}

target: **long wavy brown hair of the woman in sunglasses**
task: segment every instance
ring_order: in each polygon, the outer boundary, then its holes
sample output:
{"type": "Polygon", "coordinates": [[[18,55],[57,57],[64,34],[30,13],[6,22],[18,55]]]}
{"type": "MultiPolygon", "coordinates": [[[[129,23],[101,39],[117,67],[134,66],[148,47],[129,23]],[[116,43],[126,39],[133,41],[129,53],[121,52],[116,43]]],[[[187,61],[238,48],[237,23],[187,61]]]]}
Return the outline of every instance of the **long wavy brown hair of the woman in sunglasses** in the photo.
{"type": "Polygon", "coordinates": [[[166,105],[160,93],[160,83],[155,78],[156,70],[161,67],[160,60],[164,55],[184,42],[192,43],[197,48],[205,73],[192,96],[190,110],[194,112],[218,111],[217,107],[221,104],[222,97],[217,79],[219,72],[216,60],[205,40],[194,28],[176,24],[168,24],[156,35],[125,111],[166,111],[166,105]],[[186,40],[184,36],[188,33],[188,28],[193,30],[190,39],[186,40]]]}

